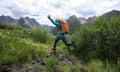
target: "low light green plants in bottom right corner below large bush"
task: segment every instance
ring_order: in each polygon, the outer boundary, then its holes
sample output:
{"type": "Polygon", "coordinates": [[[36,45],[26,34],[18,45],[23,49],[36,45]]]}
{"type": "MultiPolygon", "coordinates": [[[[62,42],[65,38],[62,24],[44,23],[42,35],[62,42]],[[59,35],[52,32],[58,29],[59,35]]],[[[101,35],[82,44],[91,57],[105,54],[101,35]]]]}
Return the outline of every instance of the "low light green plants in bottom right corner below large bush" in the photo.
{"type": "Polygon", "coordinates": [[[102,62],[98,59],[93,59],[86,67],[87,72],[119,72],[119,67],[115,64],[110,64],[108,61],[102,62]]]}

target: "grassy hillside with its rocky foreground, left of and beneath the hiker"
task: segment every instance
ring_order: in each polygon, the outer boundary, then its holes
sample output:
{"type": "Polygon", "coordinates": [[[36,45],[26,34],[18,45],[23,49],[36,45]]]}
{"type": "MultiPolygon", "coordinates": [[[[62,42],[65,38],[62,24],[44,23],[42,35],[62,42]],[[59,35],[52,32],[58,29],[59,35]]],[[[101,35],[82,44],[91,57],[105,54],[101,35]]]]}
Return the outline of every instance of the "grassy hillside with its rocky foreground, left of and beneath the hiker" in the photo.
{"type": "Polygon", "coordinates": [[[65,72],[84,70],[84,64],[43,29],[24,29],[0,23],[0,72],[65,72]],[[43,36],[42,36],[43,35],[43,36]],[[66,70],[64,70],[66,69],[66,70]]]}

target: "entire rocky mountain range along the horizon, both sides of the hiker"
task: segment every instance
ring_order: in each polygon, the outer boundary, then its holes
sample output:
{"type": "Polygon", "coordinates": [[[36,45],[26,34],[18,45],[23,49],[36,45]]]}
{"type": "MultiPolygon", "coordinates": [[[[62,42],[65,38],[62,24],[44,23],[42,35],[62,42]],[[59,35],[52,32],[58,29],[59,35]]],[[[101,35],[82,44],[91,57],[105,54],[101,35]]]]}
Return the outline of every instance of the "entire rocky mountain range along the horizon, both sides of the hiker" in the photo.
{"type": "MultiPolygon", "coordinates": [[[[104,18],[110,18],[112,16],[120,16],[120,11],[112,10],[110,12],[107,12],[107,13],[101,15],[101,17],[104,17],[104,18]]],[[[72,15],[69,17],[68,24],[70,26],[70,29],[74,30],[75,28],[79,27],[81,24],[83,24],[83,23],[89,24],[90,22],[92,22],[95,19],[97,19],[96,16],[89,17],[88,19],[86,19],[84,17],[78,18],[75,15],[72,15]]],[[[45,28],[48,30],[53,29],[53,26],[39,24],[34,18],[29,18],[29,17],[24,17],[24,18],[21,17],[19,19],[14,19],[10,16],[2,15],[2,16],[0,16],[0,21],[9,23],[9,24],[19,24],[25,28],[42,27],[42,28],[45,28]]]]}

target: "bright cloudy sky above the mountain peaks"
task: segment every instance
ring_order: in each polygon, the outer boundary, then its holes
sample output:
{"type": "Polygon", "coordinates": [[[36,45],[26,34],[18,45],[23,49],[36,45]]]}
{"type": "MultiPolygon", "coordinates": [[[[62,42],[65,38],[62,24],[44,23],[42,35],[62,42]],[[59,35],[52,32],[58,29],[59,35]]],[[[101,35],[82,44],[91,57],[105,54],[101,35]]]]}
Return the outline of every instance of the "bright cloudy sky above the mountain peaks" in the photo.
{"type": "Polygon", "coordinates": [[[120,0],[0,0],[0,15],[29,16],[40,24],[50,25],[48,14],[52,18],[67,19],[71,15],[88,18],[113,9],[120,10],[120,0]]]}

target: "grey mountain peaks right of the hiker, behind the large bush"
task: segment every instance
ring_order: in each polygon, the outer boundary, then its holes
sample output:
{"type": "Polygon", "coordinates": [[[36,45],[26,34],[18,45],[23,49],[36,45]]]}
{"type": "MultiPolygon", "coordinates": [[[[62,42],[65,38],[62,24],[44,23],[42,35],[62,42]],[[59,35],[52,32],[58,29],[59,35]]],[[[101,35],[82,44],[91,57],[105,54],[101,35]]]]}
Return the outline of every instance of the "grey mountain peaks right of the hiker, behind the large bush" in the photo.
{"type": "MultiPolygon", "coordinates": [[[[114,16],[120,16],[120,11],[118,10],[112,10],[110,12],[107,12],[99,17],[103,17],[103,18],[110,18],[110,17],[114,17],[114,16]]],[[[68,20],[68,24],[69,24],[69,29],[70,32],[69,34],[73,34],[77,29],[80,28],[80,26],[82,24],[90,24],[92,21],[96,20],[98,17],[97,16],[93,16],[93,17],[89,17],[89,18],[84,18],[84,17],[76,17],[75,15],[72,15],[69,17],[68,20]]]]}

